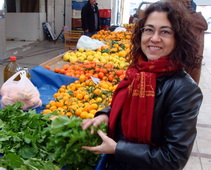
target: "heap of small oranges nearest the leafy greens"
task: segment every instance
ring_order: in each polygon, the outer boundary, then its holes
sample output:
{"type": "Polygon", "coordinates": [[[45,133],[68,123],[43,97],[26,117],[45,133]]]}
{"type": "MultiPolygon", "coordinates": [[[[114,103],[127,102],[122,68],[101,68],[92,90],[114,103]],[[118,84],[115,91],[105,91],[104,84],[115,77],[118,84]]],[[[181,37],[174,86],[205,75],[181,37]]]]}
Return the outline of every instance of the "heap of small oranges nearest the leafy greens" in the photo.
{"type": "Polygon", "coordinates": [[[55,100],[46,105],[43,114],[57,112],[60,115],[77,116],[82,119],[93,118],[98,110],[111,103],[111,98],[117,85],[108,81],[95,84],[92,80],[79,80],[68,86],[61,86],[54,94],[55,100]]]}

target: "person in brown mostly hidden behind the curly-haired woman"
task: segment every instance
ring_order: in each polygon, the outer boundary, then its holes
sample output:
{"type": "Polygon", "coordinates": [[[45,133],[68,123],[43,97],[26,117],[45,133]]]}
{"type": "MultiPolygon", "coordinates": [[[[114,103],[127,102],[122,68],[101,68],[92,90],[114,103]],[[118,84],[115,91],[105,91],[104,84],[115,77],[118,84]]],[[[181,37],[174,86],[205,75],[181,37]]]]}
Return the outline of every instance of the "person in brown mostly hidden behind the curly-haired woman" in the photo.
{"type": "MultiPolygon", "coordinates": [[[[177,0],[189,10],[192,17],[192,23],[195,25],[196,41],[199,42],[199,50],[196,55],[198,60],[202,63],[204,51],[204,33],[208,29],[208,24],[201,12],[196,12],[196,4],[193,0],[177,0]]],[[[194,81],[199,84],[201,76],[201,65],[198,68],[187,68],[186,71],[191,75],[194,81]]]]}

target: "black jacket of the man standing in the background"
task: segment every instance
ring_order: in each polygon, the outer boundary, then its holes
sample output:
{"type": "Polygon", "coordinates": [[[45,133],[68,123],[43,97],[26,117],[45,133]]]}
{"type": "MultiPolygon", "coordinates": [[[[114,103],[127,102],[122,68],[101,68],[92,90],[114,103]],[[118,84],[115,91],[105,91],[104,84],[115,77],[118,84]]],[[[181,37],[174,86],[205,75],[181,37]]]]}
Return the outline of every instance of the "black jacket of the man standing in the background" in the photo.
{"type": "Polygon", "coordinates": [[[94,8],[98,16],[97,30],[95,29],[95,17],[94,17],[95,12],[92,9],[92,5],[90,4],[90,2],[87,2],[87,4],[85,4],[81,10],[81,22],[83,30],[89,29],[89,32],[94,32],[100,29],[99,10],[97,5],[94,5],[94,8]]]}

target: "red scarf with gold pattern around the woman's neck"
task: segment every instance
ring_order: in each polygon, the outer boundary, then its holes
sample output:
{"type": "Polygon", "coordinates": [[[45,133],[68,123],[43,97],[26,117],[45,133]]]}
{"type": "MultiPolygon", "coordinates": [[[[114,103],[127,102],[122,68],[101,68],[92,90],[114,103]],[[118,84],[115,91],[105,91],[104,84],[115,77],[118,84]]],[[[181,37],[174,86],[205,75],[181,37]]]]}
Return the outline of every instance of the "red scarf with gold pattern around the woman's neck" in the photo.
{"type": "Polygon", "coordinates": [[[151,143],[152,118],[156,78],[170,75],[180,69],[171,64],[169,57],[139,61],[130,66],[126,76],[114,92],[109,117],[109,136],[114,138],[118,116],[121,115],[122,131],[131,142],[151,143]]]}

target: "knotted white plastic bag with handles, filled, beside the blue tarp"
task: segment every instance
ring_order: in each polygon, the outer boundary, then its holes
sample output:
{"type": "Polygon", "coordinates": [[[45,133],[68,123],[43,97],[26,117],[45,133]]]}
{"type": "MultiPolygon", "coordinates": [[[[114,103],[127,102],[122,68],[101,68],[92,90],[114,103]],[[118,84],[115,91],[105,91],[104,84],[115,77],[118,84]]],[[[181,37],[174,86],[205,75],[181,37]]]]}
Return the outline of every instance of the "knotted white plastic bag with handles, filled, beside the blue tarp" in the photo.
{"type": "Polygon", "coordinates": [[[26,77],[25,70],[11,76],[1,87],[1,107],[15,104],[18,101],[24,104],[23,110],[34,109],[42,105],[40,93],[32,82],[26,77]],[[20,80],[15,78],[20,75],[20,80]]]}

